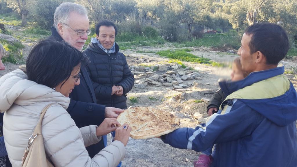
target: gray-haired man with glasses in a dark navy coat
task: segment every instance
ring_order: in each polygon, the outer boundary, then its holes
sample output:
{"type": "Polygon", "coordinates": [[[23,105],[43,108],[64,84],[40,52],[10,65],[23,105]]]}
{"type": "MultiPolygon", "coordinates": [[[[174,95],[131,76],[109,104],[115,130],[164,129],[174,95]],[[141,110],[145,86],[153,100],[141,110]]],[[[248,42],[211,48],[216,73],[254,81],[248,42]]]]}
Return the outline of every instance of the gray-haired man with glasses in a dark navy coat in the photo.
{"type": "MultiPolygon", "coordinates": [[[[86,9],[74,3],[63,3],[56,8],[52,27],[52,37],[57,41],[64,40],[78,50],[82,50],[84,43],[91,33],[86,9]]],[[[100,125],[105,118],[116,118],[123,112],[119,108],[106,107],[96,104],[94,89],[86,71],[81,67],[80,84],[75,86],[70,94],[71,99],[68,113],[78,127],[100,125]]],[[[92,158],[106,146],[106,136],[99,143],[86,147],[92,158]]]]}

